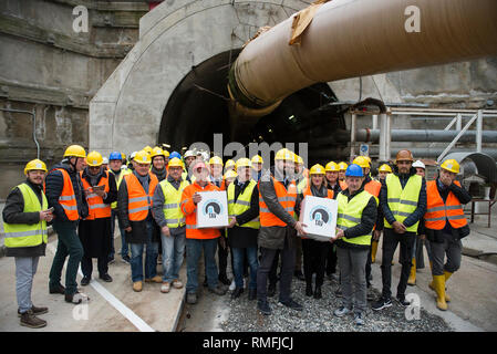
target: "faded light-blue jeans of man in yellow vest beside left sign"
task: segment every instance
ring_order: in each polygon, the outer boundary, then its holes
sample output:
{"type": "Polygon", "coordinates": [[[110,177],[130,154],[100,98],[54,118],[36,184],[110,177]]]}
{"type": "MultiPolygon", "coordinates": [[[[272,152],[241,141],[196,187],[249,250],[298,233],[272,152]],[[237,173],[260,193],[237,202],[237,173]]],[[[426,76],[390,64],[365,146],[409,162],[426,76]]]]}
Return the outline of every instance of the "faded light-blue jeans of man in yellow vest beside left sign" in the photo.
{"type": "Polygon", "coordinates": [[[185,254],[186,229],[169,229],[170,236],[161,235],[163,241],[163,281],[172,282],[179,278],[179,269],[185,254]],[[176,233],[175,231],[180,230],[176,233]]]}

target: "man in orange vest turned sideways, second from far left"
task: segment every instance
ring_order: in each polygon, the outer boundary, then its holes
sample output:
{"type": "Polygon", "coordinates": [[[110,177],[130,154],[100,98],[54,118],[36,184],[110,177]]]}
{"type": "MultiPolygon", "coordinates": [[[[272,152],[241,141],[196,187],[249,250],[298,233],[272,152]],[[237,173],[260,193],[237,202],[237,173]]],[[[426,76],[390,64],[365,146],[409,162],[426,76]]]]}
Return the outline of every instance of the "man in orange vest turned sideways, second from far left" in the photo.
{"type": "Polygon", "coordinates": [[[79,171],[83,169],[86,153],[82,146],[71,145],[64,159],[55,165],[45,179],[49,207],[54,208],[53,229],[59,236],[56,252],[50,270],[50,293],[65,294],[65,301],[81,303],[90,300],[77,292],[76,274],[83,257],[83,246],[77,237],[80,219],[89,215],[86,199],[82,192],[79,171]],[[61,285],[62,268],[69,256],[65,271],[65,289],[61,285]]]}

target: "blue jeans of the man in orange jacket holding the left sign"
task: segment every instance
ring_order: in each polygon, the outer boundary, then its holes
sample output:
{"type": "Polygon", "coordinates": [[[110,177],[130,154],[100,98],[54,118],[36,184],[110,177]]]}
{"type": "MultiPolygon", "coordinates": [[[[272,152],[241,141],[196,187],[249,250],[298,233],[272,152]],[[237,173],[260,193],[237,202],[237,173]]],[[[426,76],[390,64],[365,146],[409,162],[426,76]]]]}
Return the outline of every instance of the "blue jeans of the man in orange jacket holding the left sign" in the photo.
{"type": "Polygon", "coordinates": [[[201,250],[204,249],[204,261],[207,275],[207,285],[210,289],[217,287],[217,264],[216,264],[216,249],[217,238],[203,240],[203,239],[186,239],[186,292],[196,292],[198,288],[198,259],[200,258],[201,250]]]}

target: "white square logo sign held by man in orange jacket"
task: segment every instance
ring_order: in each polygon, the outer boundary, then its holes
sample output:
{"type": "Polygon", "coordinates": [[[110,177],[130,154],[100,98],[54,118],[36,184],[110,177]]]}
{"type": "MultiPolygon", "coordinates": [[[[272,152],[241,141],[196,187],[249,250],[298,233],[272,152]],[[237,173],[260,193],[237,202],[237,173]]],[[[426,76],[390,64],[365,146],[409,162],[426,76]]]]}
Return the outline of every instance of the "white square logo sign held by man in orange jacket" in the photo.
{"type": "Polygon", "coordinates": [[[197,205],[197,228],[222,228],[229,225],[228,197],[226,190],[199,191],[197,205]]]}

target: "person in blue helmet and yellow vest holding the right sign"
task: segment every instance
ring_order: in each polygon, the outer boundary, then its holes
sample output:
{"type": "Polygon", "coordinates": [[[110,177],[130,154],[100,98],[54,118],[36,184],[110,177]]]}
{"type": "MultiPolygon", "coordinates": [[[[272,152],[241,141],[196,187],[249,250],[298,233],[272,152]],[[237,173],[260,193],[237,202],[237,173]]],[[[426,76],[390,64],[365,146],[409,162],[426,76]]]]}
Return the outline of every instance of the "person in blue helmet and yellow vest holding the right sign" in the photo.
{"type": "Polygon", "coordinates": [[[346,168],[348,188],[336,197],[336,235],[331,240],[336,244],[342,288],[341,306],[333,313],[341,317],[352,312],[353,306],[356,325],[364,324],[367,304],[365,264],[377,212],[376,200],[364,190],[363,180],[359,165],[352,164],[346,168]]]}

